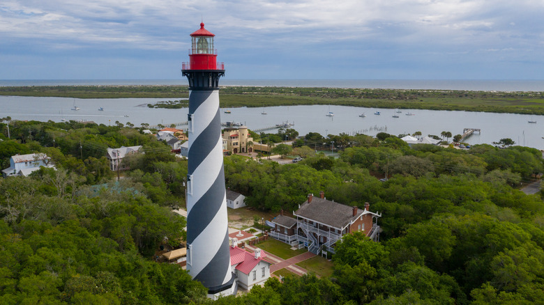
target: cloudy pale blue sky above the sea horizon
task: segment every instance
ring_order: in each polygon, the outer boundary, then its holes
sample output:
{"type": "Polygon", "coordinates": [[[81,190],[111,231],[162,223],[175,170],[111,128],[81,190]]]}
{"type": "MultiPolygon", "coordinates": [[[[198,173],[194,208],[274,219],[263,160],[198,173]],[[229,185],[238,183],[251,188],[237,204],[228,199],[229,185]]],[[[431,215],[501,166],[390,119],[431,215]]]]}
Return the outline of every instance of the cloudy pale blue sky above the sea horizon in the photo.
{"type": "Polygon", "coordinates": [[[544,79],[543,0],[3,0],[0,79],[544,79]]]}

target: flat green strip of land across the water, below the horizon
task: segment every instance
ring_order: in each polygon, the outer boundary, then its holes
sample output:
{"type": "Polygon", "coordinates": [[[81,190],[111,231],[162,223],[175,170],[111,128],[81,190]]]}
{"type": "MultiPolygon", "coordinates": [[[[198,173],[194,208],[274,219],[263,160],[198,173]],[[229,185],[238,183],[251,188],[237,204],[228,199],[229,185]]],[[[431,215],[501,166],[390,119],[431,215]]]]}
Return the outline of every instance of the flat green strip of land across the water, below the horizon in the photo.
{"type": "MultiPolygon", "coordinates": [[[[0,95],[73,98],[188,97],[188,86],[3,86],[0,95]]],[[[172,107],[172,103],[169,107],[172,107]]],[[[387,109],[481,111],[544,115],[543,92],[416,89],[222,86],[220,107],[273,107],[334,104],[387,109]]]]}

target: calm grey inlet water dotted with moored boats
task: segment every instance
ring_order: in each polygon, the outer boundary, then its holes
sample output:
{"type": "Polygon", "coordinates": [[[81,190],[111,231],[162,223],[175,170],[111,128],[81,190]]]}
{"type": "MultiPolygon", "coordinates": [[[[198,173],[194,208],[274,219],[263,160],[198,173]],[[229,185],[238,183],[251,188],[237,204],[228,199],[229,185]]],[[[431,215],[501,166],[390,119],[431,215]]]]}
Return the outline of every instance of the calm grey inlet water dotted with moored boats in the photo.
{"type": "MultiPolygon", "coordinates": [[[[187,128],[187,108],[182,109],[150,109],[149,103],[156,103],[159,98],[120,98],[120,99],[76,99],[67,97],[19,97],[0,96],[1,116],[10,116],[13,120],[62,120],[93,121],[98,124],[114,125],[116,122],[131,123],[136,127],[145,124],[148,127],[158,125],[187,128]],[[70,111],[73,104],[79,111],[70,111]],[[100,111],[103,107],[105,111],[100,111]],[[24,111],[22,111],[24,109],[24,111]],[[54,110],[56,109],[56,110],[54,110]],[[64,109],[64,111],[63,111],[64,109]],[[60,111],[59,111],[60,110],[60,111]]],[[[435,111],[422,109],[402,109],[404,116],[392,118],[380,116],[396,112],[395,109],[378,107],[334,107],[335,116],[324,116],[328,113],[328,105],[301,105],[259,108],[229,108],[230,114],[220,111],[222,123],[234,122],[248,126],[256,132],[275,132],[282,128],[294,128],[299,134],[308,132],[319,134],[356,134],[364,133],[375,136],[378,132],[389,134],[439,135],[449,131],[453,135],[464,134],[467,126],[481,129],[465,141],[469,144],[492,143],[500,139],[510,138],[522,146],[544,149],[544,136],[539,126],[542,116],[524,114],[494,114],[469,111],[435,111]],[[266,112],[266,116],[262,112],[266,112]],[[361,117],[361,114],[372,113],[373,116],[361,117]],[[532,117],[532,118],[531,118],[532,117]],[[535,120],[537,123],[528,123],[535,120]],[[501,122],[501,124],[497,124],[501,122]],[[289,125],[287,125],[288,123],[289,125]],[[296,125],[292,125],[296,123],[296,125]],[[280,125],[280,126],[278,126],[280,125]]]]}

